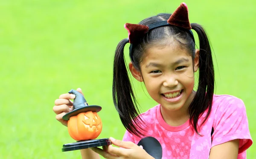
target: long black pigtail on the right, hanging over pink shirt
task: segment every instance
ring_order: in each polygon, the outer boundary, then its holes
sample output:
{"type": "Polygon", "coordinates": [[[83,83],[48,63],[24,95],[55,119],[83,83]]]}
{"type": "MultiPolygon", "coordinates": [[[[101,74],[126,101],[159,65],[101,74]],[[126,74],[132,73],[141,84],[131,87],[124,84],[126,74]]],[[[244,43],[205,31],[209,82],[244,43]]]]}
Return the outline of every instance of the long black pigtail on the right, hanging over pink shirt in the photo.
{"type": "Polygon", "coordinates": [[[190,123],[193,125],[196,133],[198,133],[198,119],[206,110],[208,110],[204,121],[201,123],[202,125],[208,118],[212,109],[214,69],[212,52],[206,32],[203,27],[197,23],[191,23],[191,27],[197,32],[200,45],[198,90],[189,106],[190,123]]]}

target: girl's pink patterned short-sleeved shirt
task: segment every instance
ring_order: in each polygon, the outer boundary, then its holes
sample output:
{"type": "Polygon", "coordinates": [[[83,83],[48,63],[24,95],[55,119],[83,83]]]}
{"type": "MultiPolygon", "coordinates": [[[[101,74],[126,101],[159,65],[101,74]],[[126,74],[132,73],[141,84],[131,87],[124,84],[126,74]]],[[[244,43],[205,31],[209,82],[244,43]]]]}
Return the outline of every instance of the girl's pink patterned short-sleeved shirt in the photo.
{"type": "MultiPolygon", "coordinates": [[[[214,95],[212,111],[202,125],[199,136],[189,126],[189,120],[183,125],[172,127],[164,120],[160,104],[142,113],[140,116],[148,123],[142,126],[145,136],[156,138],[162,148],[162,159],[208,159],[211,147],[240,139],[238,159],[246,159],[246,150],[253,141],[250,136],[244,103],[231,95],[214,95]],[[212,128],[214,132],[211,136],[212,128]]],[[[199,118],[200,125],[206,112],[199,118]]],[[[123,141],[138,144],[143,137],[125,132],[123,141]]]]}

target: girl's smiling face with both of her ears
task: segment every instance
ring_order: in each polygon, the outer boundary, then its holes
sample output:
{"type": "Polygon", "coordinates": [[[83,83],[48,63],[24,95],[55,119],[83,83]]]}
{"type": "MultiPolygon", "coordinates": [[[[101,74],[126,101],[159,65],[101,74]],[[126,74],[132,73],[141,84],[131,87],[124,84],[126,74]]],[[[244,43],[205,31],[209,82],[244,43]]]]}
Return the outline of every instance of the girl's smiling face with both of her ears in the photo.
{"type": "Polygon", "coordinates": [[[140,64],[141,72],[130,70],[138,81],[143,81],[145,87],[157,103],[165,110],[184,110],[191,103],[194,88],[194,72],[198,70],[198,53],[194,60],[186,49],[177,45],[151,47],[145,52],[140,64]]]}

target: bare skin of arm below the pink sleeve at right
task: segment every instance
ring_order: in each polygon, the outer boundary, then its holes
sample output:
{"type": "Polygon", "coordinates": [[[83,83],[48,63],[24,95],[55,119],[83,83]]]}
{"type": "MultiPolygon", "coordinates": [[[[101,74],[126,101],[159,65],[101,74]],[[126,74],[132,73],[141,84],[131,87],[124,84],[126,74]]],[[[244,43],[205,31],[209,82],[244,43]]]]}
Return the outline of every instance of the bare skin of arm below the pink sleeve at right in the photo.
{"type": "Polygon", "coordinates": [[[237,159],[239,139],[212,147],[209,159],[237,159]]]}

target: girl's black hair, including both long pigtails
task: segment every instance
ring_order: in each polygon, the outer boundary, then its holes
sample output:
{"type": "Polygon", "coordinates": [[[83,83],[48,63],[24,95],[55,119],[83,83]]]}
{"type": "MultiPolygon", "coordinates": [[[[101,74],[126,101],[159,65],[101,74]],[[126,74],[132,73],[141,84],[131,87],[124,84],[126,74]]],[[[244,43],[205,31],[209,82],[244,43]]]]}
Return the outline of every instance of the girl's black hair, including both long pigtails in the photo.
{"type": "MultiPolygon", "coordinates": [[[[139,24],[149,25],[162,20],[168,20],[171,14],[157,14],[153,17],[148,17],[142,20],[139,24]]],[[[198,89],[195,97],[189,105],[189,121],[198,131],[198,119],[206,110],[208,110],[203,123],[209,116],[212,108],[212,99],[214,93],[214,69],[212,62],[212,53],[207,38],[207,34],[203,27],[197,23],[191,23],[191,27],[198,35],[200,54],[199,54],[199,78],[198,89]]],[[[189,31],[177,26],[161,26],[150,30],[145,34],[138,43],[133,44],[133,57],[131,59],[134,67],[140,71],[140,63],[145,57],[145,50],[154,45],[168,44],[168,38],[172,37],[182,47],[187,49],[194,61],[195,58],[195,42],[189,31]]],[[[129,43],[128,38],[119,42],[116,48],[114,63],[113,63],[113,103],[119,113],[122,124],[128,132],[134,135],[143,135],[140,127],[142,119],[139,116],[139,109],[134,91],[131,86],[131,81],[126,69],[124,58],[125,44],[129,43]]],[[[202,123],[202,124],[203,124],[202,123]]]]}

